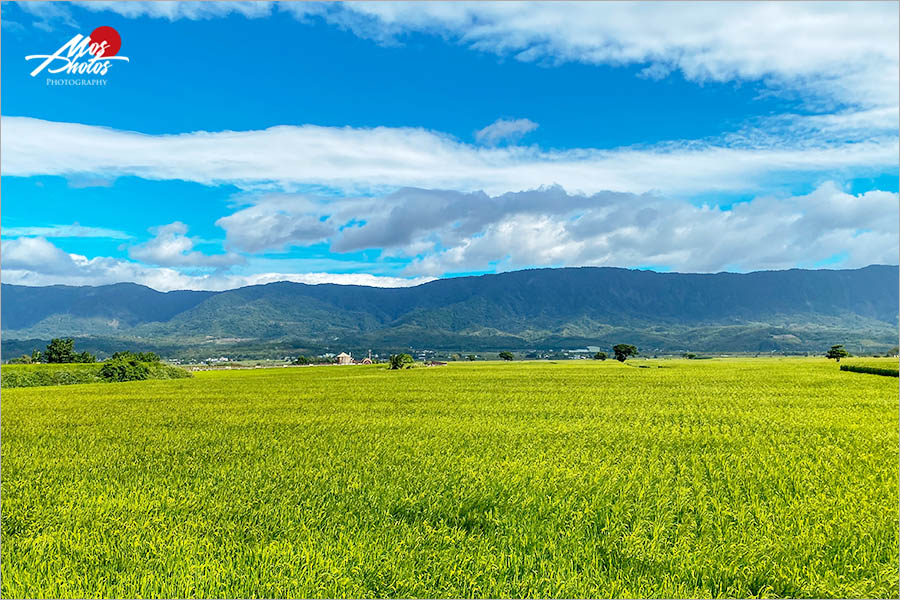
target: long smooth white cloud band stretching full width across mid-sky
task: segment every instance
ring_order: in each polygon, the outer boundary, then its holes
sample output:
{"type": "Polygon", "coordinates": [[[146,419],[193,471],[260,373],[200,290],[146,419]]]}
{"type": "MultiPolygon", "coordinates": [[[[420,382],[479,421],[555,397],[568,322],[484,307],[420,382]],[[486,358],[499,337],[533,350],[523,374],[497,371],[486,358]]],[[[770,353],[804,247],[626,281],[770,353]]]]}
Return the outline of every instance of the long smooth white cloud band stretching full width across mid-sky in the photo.
{"type": "Polygon", "coordinates": [[[748,138],[728,145],[543,151],[476,147],[414,128],[305,125],[145,135],[28,117],[3,117],[2,126],[4,175],[136,175],[255,190],[318,185],[362,193],[416,186],[497,194],[555,183],[588,194],[755,191],[763,181],[774,186],[801,175],[878,174],[896,169],[898,156],[896,132],[855,143],[748,138]]]}

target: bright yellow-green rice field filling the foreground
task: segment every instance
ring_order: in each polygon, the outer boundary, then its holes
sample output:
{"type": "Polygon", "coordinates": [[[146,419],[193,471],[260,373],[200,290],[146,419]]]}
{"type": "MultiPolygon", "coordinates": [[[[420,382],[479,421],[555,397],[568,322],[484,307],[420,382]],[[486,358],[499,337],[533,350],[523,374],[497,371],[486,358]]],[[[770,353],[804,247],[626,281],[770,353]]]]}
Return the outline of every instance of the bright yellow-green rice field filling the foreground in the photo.
{"type": "Polygon", "coordinates": [[[4,389],[2,596],[896,598],[898,425],[825,359],[4,389]]]}

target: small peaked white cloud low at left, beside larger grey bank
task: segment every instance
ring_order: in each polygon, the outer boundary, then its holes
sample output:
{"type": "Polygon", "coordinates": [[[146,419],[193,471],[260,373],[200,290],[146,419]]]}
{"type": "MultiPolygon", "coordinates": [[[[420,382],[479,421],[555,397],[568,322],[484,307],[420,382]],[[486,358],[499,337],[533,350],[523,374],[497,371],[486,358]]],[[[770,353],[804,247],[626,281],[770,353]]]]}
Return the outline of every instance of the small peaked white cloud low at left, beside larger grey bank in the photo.
{"type": "Polygon", "coordinates": [[[188,237],[187,225],[180,221],[153,227],[154,237],[128,250],[136,260],[164,267],[228,267],[244,262],[236,254],[203,254],[194,250],[197,240],[188,237]]]}

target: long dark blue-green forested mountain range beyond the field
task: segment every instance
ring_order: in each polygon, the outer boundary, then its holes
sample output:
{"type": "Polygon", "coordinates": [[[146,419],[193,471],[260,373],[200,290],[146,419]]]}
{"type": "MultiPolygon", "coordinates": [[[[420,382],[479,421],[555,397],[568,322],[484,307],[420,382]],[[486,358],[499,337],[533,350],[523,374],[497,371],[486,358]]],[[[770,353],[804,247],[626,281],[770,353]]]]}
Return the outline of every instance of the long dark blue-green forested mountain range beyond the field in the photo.
{"type": "Polygon", "coordinates": [[[162,293],[3,284],[4,350],[72,335],[178,348],[576,348],[768,352],[897,342],[898,268],[682,274],[535,269],[411,288],[272,283],[162,293]],[[11,345],[12,344],[12,345],[11,345]]]}

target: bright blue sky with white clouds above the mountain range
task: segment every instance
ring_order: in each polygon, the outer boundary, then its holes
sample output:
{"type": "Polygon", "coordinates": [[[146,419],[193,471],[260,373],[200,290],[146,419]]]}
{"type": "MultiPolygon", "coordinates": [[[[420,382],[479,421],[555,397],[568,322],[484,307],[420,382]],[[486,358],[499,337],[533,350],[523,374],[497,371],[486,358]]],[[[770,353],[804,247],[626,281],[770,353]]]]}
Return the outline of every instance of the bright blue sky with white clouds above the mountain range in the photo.
{"type": "Polygon", "coordinates": [[[674,8],[3,2],[3,281],[896,264],[896,4],[674,8]]]}

